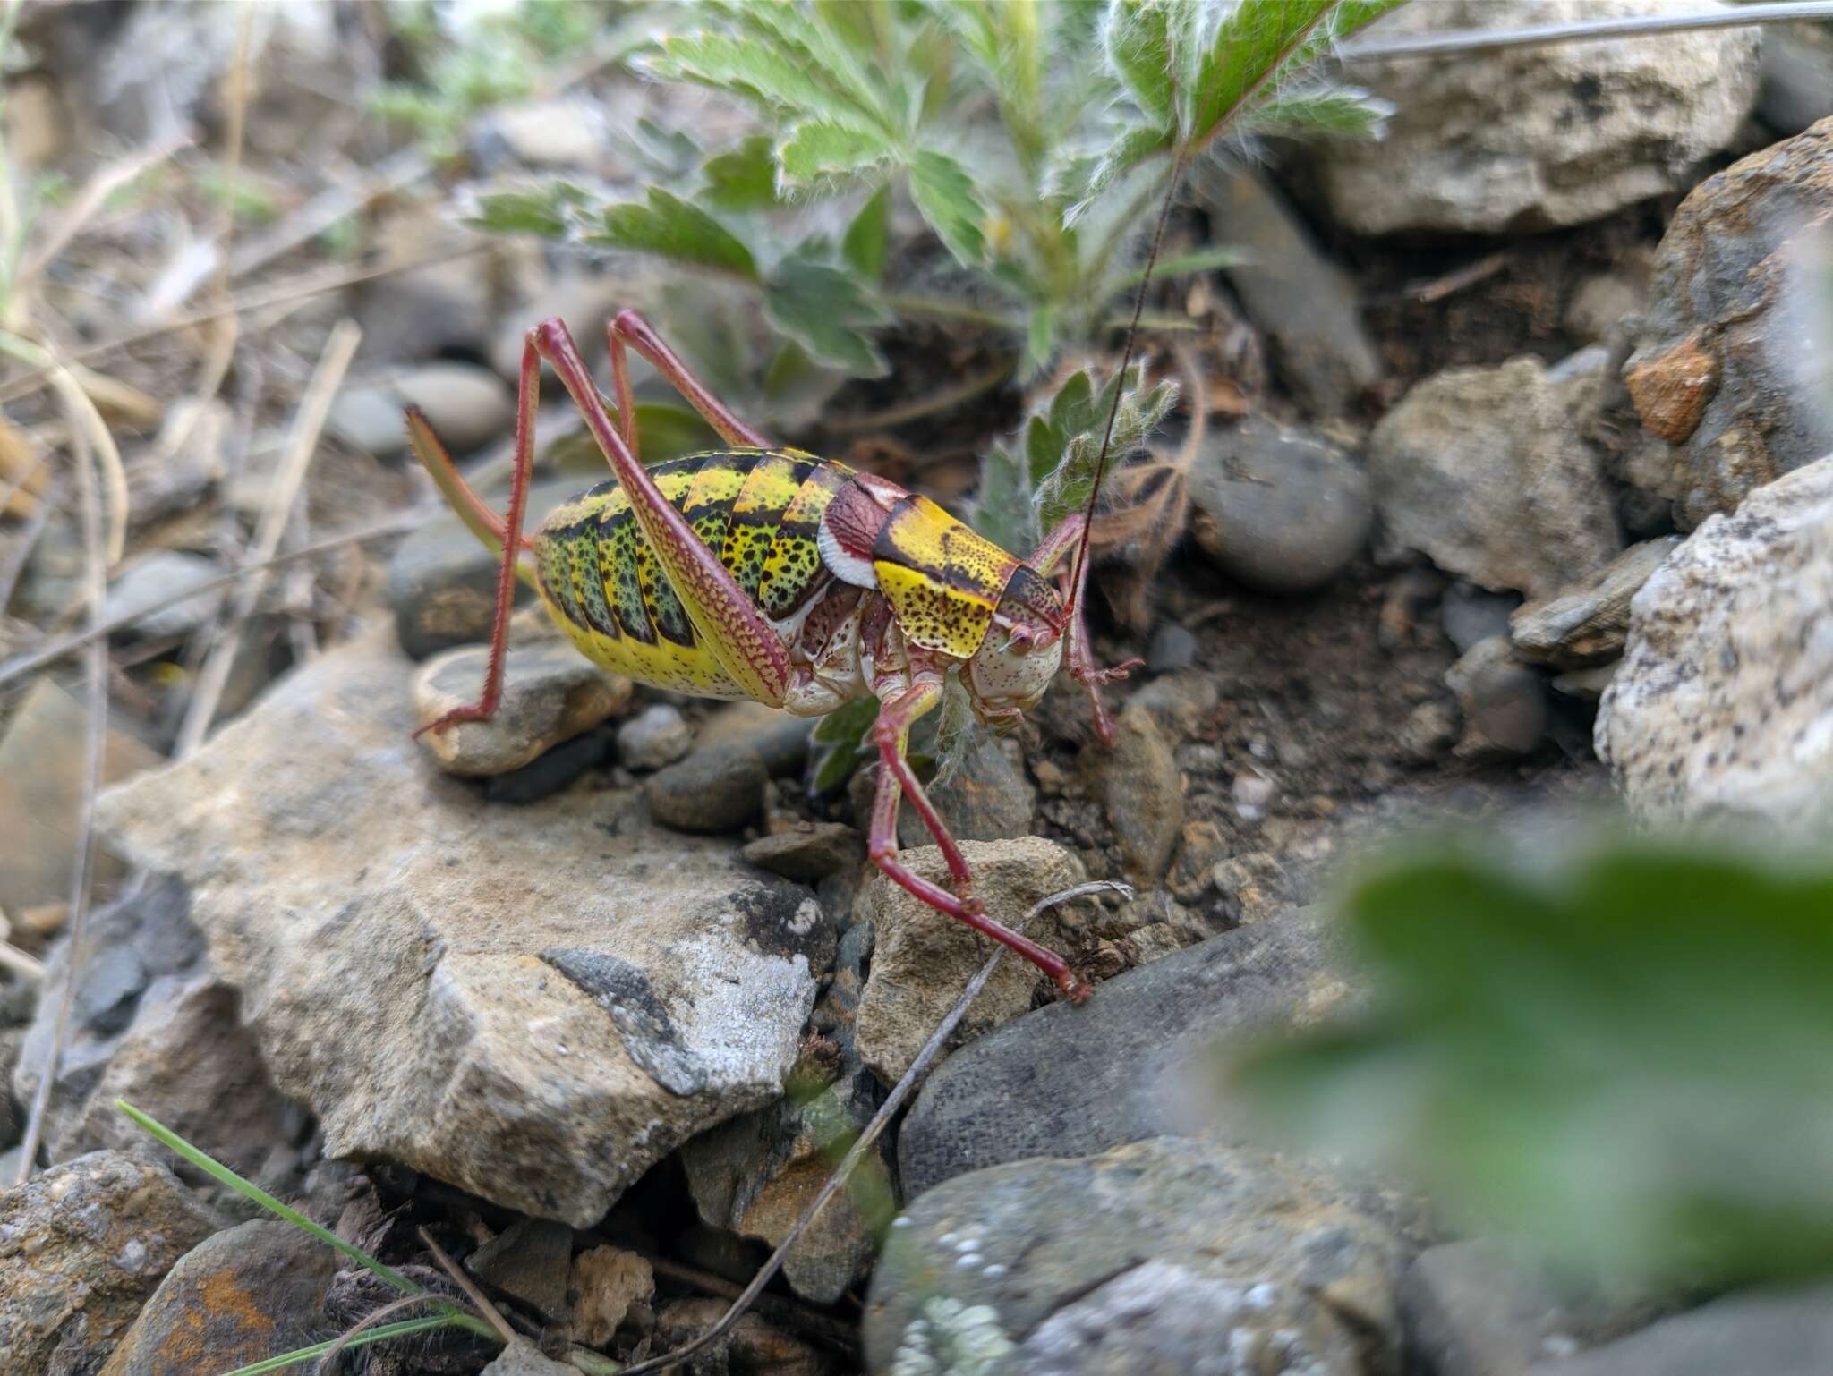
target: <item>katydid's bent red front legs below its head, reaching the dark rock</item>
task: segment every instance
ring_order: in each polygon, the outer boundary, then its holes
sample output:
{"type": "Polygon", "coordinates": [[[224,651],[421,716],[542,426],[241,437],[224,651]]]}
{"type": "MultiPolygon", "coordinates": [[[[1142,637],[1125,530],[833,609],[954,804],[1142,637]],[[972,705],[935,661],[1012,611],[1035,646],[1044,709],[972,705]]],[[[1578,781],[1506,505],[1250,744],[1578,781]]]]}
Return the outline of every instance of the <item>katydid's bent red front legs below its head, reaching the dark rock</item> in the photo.
{"type": "Polygon", "coordinates": [[[902,696],[885,702],[878,713],[878,720],[873,724],[873,740],[878,746],[880,773],[878,793],[873,799],[873,830],[867,841],[867,854],[873,863],[891,876],[896,885],[915,894],[937,912],[946,912],[957,922],[968,923],[977,933],[1010,945],[1021,956],[1037,966],[1037,969],[1056,980],[1056,986],[1065,993],[1065,997],[1069,997],[1070,1002],[1080,1004],[1087,1000],[1091,989],[1074,977],[1059,955],[1047,951],[1036,942],[1019,936],[1010,927],[1003,927],[986,916],[984,903],[981,903],[981,900],[973,894],[973,872],[968,868],[966,856],[960,854],[960,846],[955,845],[955,837],[948,834],[948,825],[942,821],[940,814],[937,814],[935,804],[929,803],[929,795],[924,793],[922,781],[916,779],[909,760],[904,757],[911,722],[935,707],[940,700],[942,683],[938,680],[918,682],[902,696]],[[898,861],[900,795],[909,797],[911,806],[916,808],[916,815],[922,817],[924,826],[929,828],[929,835],[935,837],[937,846],[942,850],[942,859],[955,883],[955,892],[911,874],[909,868],[898,861]]]}

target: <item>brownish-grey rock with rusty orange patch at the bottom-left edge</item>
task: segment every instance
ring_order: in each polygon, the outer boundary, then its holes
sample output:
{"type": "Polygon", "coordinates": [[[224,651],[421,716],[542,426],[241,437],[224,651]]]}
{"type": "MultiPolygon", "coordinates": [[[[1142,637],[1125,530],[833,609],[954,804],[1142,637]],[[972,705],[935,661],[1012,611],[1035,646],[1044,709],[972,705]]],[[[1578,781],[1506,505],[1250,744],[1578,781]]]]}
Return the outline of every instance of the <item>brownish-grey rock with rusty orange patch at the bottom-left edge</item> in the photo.
{"type": "Polygon", "coordinates": [[[328,1338],[337,1253],[291,1224],[251,1220],[203,1239],[147,1301],[101,1376],[220,1376],[328,1338]]]}

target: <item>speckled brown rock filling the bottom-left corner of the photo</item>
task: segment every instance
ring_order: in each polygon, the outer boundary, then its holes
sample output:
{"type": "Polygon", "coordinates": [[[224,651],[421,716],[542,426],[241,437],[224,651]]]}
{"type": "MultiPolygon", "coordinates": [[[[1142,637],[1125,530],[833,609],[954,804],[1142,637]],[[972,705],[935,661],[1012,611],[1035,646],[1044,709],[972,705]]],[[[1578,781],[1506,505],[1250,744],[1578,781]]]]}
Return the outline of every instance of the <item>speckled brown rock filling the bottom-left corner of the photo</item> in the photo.
{"type": "Polygon", "coordinates": [[[101,1367],[216,1218],[159,1165],[97,1151],[0,1193],[0,1376],[101,1367]]]}

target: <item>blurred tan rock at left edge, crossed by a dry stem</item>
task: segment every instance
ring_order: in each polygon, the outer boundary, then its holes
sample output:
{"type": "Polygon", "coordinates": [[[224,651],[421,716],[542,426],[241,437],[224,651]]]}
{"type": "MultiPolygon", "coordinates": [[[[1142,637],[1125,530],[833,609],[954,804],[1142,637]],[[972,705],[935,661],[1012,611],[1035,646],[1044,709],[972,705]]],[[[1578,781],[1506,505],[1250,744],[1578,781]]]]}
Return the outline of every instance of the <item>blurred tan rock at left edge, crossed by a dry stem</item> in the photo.
{"type": "MultiPolygon", "coordinates": [[[[0,912],[70,901],[70,872],[82,815],[88,709],[49,678],[40,678],[0,735],[0,912]]],[[[159,764],[159,755],[125,731],[103,746],[103,782],[159,764]]],[[[93,881],[117,879],[121,865],[103,852],[93,881]]]]}

